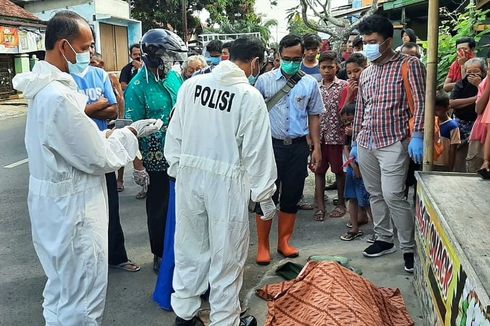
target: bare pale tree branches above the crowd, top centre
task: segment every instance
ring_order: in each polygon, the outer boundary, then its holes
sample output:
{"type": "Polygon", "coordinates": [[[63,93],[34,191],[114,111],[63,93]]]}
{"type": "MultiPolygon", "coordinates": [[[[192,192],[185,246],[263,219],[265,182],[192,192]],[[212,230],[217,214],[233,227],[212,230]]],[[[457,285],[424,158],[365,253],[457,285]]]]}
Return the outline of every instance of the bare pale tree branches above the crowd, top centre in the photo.
{"type": "Polygon", "coordinates": [[[378,0],[373,0],[371,8],[360,19],[351,22],[347,18],[336,18],[332,16],[332,1],[331,0],[300,0],[300,4],[290,9],[293,14],[300,14],[301,19],[306,27],[316,31],[330,35],[330,43],[334,44],[334,48],[338,49],[340,44],[344,42],[349,34],[366,17],[373,15],[378,10],[378,0]],[[317,20],[310,18],[313,17],[317,20]]]}

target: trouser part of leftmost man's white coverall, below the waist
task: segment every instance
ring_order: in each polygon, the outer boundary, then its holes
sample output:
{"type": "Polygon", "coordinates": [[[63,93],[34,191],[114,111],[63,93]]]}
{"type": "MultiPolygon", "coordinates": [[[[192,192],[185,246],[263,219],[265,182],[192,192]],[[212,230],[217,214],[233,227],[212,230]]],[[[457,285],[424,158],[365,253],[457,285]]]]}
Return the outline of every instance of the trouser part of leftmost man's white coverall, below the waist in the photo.
{"type": "MultiPolygon", "coordinates": [[[[31,179],[32,239],[48,277],[43,315],[47,326],[100,325],[108,274],[105,181],[68,196],[36,193],[31,179]]],[[[42,191],[41,191],[42,192],[42,191]]]]}

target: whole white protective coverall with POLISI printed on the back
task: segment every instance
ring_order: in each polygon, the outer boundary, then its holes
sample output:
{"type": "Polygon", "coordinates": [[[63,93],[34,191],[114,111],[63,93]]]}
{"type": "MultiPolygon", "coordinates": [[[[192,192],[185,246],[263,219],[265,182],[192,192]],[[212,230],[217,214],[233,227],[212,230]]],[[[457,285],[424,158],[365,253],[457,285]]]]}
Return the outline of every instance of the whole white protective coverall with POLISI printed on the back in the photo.
{"type": "Polygon", "coordinates": [[[255,202],[271,198],[277,171],[263,97],[237,65],[183,84],[165,158],[176,178],[172,308],[191,319],[209,283],[211,325],[238,325],[250,191],[255,202]]]}

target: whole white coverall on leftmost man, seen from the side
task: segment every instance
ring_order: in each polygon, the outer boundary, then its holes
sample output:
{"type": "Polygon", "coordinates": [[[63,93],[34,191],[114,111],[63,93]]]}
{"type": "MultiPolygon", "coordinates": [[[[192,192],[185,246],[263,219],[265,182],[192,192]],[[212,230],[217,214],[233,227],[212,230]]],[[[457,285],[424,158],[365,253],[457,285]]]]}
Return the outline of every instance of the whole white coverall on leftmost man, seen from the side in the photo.
{"type": "Polygon", "coordinates": [[[108,273],[104,174],[131,162],[138,141],[127,129],[109,137],[85,115],[73,78],[40,61],[15,76],[29,100],[25,144],[32,240],[48,277],[46,325],[99,325],[108,273]]]}

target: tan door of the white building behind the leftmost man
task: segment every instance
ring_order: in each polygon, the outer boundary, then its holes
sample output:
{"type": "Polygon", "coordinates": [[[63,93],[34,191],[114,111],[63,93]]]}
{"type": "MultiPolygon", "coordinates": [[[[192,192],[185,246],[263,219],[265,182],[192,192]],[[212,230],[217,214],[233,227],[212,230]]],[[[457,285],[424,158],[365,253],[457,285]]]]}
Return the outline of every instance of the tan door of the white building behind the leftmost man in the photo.
{"type": "Polygon", "coordinates": [[[100,51],[108,71],[121,70],[128,63],[128,28],[99,24],[100,51]]]}

